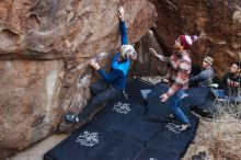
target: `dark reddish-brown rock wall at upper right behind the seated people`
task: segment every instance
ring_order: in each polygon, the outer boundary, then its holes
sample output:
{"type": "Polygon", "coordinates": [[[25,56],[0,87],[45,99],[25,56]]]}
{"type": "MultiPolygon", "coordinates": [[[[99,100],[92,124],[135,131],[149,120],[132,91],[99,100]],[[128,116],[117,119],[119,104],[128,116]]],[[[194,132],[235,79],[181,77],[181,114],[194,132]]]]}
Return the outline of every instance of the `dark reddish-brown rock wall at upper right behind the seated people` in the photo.
{"type": "Polygon", "coordinates": [[[233,61],[241,61],[241,1],[152,0],[158,11],[154,33],[164,53],[181,34],[200,35],[192,47],[192,59],[202,65],[205,55],[215,59],[221,76],[233,61]]]}

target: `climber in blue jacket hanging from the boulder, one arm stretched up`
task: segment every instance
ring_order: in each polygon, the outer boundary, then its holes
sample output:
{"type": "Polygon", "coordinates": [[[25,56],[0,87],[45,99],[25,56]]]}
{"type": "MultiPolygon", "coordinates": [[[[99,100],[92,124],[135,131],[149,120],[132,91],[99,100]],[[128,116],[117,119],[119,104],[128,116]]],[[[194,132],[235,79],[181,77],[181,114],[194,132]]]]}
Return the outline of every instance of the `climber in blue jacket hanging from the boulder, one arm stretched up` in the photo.
{"type": "Polygon", "coordinates": [[[110,72],[101,69],[95,60],[90,62],[90,66],[102,77],[102,80],[97,81],[91,87],[91,92],[94,96],[81,113],[77,115],[73,113],[68,113],[65,116],[65,119],[69,123],[79,123],[85,121],[97,106],[122,95],[123,91],[125,90],[130,60],[137,58],[137,53],[135,52],[133,45],[128,45],[124,9],[122,7],[118,10],[118,18],[120,21],[122,32],[120,52],[114,56],[111,62],[110,72]]]}

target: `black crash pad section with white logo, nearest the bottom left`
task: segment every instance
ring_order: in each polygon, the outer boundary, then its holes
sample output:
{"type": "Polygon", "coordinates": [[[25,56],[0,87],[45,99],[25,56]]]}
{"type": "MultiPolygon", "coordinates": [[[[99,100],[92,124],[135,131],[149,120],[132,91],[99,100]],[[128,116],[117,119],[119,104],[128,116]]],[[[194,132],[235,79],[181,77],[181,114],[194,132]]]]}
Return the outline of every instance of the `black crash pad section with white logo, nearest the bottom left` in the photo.
{"type": "Polygon", "coordinates": [[[87,124],[57,145],[45,156],[45,160],[88,160],[114,139],[114,135],[101,127],[87,124]]]}

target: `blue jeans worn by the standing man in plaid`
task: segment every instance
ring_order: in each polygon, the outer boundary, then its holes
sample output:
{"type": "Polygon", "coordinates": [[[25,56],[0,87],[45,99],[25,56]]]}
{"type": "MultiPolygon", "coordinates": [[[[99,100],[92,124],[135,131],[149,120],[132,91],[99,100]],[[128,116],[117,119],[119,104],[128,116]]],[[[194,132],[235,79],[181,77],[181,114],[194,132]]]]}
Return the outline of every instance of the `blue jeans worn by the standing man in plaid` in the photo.
{"type": "Polygon", "coordinates": [[[179,118],[179,121],[183,124],[190,124],[188,118],[180,108],[181,98],[184,93],[184,89],[180,89],[169,99],[169,107],[172,110],[174,115],[179,118]]]}

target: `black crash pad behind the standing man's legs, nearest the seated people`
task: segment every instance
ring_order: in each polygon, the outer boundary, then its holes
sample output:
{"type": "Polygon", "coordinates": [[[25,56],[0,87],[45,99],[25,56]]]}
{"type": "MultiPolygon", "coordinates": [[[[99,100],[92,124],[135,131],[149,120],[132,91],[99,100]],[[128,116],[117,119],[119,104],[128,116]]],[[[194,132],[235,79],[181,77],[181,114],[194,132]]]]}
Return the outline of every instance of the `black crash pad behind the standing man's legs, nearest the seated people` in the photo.
{"type": "MultiPolygon", "coordinates": [[[[147,98],[148,112],[146,118],[152,121],[161,121],[164,115],[171,114],[168,103],[160,102],[160,95],[168,91],[167,84],[158,83],[152,92],[147,98]]],[[[187,96],[181,100],[181,108],[185,114],[190,114],[190,107],[196,107],[198,110],[206,110],[214,112],[215,108],[215,96],[211,94],[209,88],[190,88],[185,91],[187,96]]]]}

